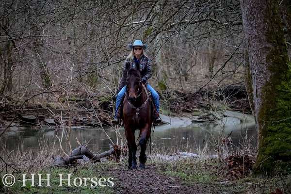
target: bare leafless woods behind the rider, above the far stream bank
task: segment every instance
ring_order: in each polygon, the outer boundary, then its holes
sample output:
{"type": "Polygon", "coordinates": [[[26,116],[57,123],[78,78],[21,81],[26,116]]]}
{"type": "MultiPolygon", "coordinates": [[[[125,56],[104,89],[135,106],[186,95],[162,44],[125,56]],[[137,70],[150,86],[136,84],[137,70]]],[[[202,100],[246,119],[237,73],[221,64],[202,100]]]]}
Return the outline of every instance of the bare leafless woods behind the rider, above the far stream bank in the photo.
{"type": "MultiPolygon", "coordinates": [[[[280,7],[290,39],[287,4],[280,7]]],[[[239,0],[5,0],[0,25],[1,110],[113,101],[135,39],[149,45],[149,82],[162,109],[183,102],[165,93],[244,85],[239,0]]]]}

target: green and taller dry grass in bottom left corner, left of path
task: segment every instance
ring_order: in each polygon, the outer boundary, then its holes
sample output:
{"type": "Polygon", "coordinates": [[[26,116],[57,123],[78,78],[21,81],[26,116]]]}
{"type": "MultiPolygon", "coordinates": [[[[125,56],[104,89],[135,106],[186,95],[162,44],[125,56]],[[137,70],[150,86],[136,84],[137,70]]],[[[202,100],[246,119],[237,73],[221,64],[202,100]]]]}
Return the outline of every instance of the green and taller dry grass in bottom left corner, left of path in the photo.
{"type": "MultiPolygon", "coordinates": [[[[21,145],[21,144],[20,144],[21,145]]],[[[107,178],[104,175],[106,169],[111,168],[114,163],[107,161],[101,163],[92,163],[85,162],[69,167],[51,167],[53,162],[51,155],[57,156],[62,155],[62,152],[57,149],[54,144],[48,145],[45,141],[40,142],[39,150],[34,152],[31,148],[23,149],[18,147],[18,149],[14,151],[8,151],[5,146],[1,147],[0,150],[0,193],[7,194],[111,194],[113,193],[112,187],[101,187],[99,186],[99,178],[105,178],[106,182],[101,182],[101,184],[106,184],[107,178]],[[3,159],[3,160],[2,160],[3,159]],[[15,177],[15,184],[11,187],[6,187],[2,183],[2,178],[5,174],[12,174],[15,177]],[[50,186],[45,187],[47,185],[47,180],[42,181],[42,185],[44,187],[37,187],[38,183],[38,175],[34,177],[34,185],[30,180],[27,181],[26,186],[23,185],[23,175],[26,175],[27,179],[31,179],[32,173],[35,174],[43,174],[42,179],[46,179],[47,175],[50,175],[50,186]],[[71,175],[71,185],[72,187],[59,187],[60,176],[58,174],[64,174],[63,178],[67,178],[66,174],[71,175]],[[76,179],[76,185],[81,183],[80,187],[74,185],[74,179],[76,179]],[[81,180],[79,179],[81,178],[81,180]],[[85,180],[87,179],[85,184],[85,180]],[[91,181],[91,178],[95,178],[94,181],[91,181]],[[91,184],[92,183],[92,184],[91,184]],[[87,186],[85,186],[87,185],[87,186]]],[[[103,180],[103,179],[101,179],[103,180]]],[[[63,183],[67,185],[67,181],[63,183]]]]}

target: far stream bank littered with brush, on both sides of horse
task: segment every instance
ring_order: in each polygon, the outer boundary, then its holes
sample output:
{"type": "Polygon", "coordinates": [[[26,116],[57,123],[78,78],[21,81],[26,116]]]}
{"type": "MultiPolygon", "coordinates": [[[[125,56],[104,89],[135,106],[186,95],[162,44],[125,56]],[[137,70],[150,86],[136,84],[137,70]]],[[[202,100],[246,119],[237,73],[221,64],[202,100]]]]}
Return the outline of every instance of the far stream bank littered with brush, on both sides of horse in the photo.
{"type": "MultiPolygon", "coordinates": [[[[229,110],[251,113],[242,86],[198,90],[195,93],[164,91],[160,93],[160,97],[162,114],[191,117],[194,122],[213,120],[213,117],[210,118],[210,111],[213,107],[224,110],[226,102],[229,110]]],[[[9,128],[7,131],[16,131],[27,126],[39,129],[111,126],[114,100],[115,97],[110,94],[95,94],[90,97],[87,94],[78,94],[69,99],[63,97],[59,102],[35,101],[23,105],[17,100],[11,100],[0,104],[0,133],[6,128],[9,128]]]]}

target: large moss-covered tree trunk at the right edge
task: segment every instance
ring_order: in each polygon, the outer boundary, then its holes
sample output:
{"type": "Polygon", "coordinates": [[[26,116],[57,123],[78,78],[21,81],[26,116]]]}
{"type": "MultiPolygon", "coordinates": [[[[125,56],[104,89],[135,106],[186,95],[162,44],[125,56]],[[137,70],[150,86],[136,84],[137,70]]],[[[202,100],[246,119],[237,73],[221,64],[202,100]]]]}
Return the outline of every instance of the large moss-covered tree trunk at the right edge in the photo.
{"type": "Polygon", "coordinates": [[[290,171],[291,65],[278,2],[241,0],[241,6],[259,131],[254,172],[290,171]]]}

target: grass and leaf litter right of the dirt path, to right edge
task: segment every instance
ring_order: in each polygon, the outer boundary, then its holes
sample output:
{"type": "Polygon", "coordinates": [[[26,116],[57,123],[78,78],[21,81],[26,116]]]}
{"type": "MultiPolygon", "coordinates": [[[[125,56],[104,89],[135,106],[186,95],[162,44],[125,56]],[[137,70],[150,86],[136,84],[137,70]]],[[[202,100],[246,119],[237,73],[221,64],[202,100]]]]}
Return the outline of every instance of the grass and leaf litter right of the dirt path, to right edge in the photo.
{"type": "Polygon", "coordinates": [[[159,172],[166,176],[180,178],[185,184],[212,189],[213,193],[225,194],[270,194],[281,191],[291,193],[291,175],[273,178],[245,178],[228,180],[225,176],[225,165],[214,160],[187,159],[177,161],[151,161],[159,172]]]}

